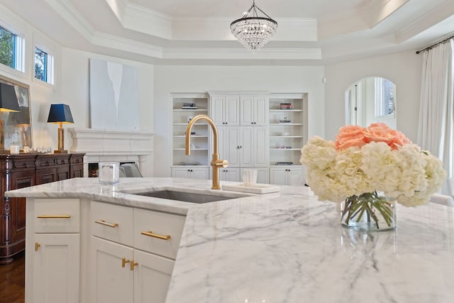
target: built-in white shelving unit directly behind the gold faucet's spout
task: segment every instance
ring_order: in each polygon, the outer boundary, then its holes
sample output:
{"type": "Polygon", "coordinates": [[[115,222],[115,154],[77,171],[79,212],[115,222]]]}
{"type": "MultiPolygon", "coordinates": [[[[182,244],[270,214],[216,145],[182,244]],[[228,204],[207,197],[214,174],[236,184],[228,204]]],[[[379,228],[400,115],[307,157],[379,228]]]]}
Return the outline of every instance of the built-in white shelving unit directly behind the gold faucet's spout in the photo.
{"type": "MultiPolygon", "coordinates": [[[[191,155],[185,155],[185,133],[189,121],[199,114],[209,114],[209,97],[207,94],[172,94],[172,175],[181,176],[188,172],[188,177],[194,177],[194,171],[203,170],[209,177],[209,126],[199,121],[192,127],[191,155]],[[196,108],[184,108],[184,104],[195,104],[196,108]],[[195,169],[195,170],[194,170],[195,169]]],[[[195,176],[195,177],[200,177],[195,176]]]]}

